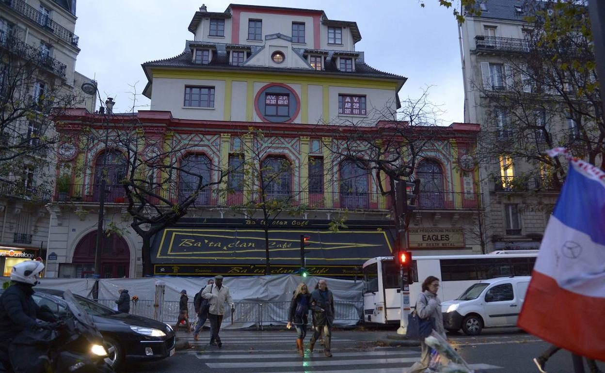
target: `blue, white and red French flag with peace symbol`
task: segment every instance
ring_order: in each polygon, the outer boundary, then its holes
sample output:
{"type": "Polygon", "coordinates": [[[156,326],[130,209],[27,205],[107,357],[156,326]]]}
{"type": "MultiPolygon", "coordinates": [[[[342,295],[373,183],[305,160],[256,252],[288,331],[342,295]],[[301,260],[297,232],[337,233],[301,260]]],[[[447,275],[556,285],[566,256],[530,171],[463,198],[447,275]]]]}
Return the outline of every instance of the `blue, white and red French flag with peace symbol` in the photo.
{"type": "Polygon", "coordinates": [[[605,360],[605,172],[572,158],[546,226],[517,325],[543,340],[605,360]]]}

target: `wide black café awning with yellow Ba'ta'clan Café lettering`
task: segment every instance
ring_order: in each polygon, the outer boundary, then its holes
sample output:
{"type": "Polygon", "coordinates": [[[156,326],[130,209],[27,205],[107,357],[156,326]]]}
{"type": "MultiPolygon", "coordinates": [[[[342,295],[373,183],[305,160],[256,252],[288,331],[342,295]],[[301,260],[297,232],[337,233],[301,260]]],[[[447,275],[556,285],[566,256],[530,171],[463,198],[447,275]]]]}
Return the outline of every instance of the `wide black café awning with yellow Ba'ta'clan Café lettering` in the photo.
{"type": "MultiPolygon", "coordinates": [[[[269,229],[270,272],[295,273],[300,268],[300,236],[310,236],[305,248],[309,274],[361,276],[365,261],[393,252],[393,231],[387,224],[347,221],[347,228],[330,230],[329,221],[277,219],[269,229]]],[[[155,275],[250,276],[264,274],[263,220],[181,219],[152,242],[155,275]]]]}

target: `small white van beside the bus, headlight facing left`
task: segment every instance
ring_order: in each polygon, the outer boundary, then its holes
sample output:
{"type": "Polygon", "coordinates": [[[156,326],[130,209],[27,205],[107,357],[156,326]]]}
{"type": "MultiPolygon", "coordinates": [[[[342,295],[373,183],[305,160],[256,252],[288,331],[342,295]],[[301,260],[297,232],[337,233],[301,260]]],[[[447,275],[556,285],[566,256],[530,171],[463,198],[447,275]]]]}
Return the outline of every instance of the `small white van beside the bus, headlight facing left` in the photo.
{"type": "Polygon", "coordinates": [[[443,326],[476,336],[483,328],[517,325],[530,279],[497,277],[471,285],[458,299],[441,303],[443,326]]]}

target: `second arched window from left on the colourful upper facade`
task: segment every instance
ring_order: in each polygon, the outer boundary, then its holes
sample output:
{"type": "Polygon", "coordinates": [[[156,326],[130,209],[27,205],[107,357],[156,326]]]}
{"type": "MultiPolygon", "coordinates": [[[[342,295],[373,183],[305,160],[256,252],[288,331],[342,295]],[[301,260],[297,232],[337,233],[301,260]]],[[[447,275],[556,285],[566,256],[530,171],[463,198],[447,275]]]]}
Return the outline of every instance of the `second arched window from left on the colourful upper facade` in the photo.
{"type": "MultiPolygon", "coordinates": [[[[181,159],[181,164],[178,169],[178,202],[185,201],[190,195],[197,192],[198,186],[208,184],[212,181],[211,178],[212,163],[206,155],[189,154],[181,159]]],[[[209,186],[200,190],[194,204],[209,205],[210,204],[209,186]]]]}

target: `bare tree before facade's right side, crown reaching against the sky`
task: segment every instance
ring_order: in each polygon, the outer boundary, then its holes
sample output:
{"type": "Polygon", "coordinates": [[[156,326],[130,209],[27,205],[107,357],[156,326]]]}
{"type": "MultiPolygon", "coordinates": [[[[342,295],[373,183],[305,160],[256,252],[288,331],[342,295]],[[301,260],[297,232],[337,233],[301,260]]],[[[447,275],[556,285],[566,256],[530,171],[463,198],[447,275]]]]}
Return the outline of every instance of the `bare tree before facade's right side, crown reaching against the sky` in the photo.
{"type": "MultiPolygon", "coordinates": [[[[428,100],[427,88],[418,99],[408,97],[397,111],[388,106],[373,108],[368,115],[371,121],[338,123],[342,139],[333,141],[330,150],[337,162],[348,162],[371,175],[381,195],[387,196],[399,239],[407,227],[406,217],[402,216],[407,201],[401,201],[401,196],[397,198],[397,184],[413,179],[417,161],[437,138],[439,114],[439,106],[428,100]],[[384,120],[374,125],[376,118],[384,120]]],[[[349,190],[348,180],[339,183],[342,193],[356,192],[349,190]]]]}

